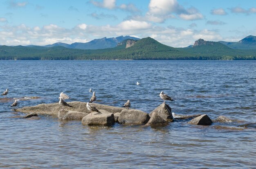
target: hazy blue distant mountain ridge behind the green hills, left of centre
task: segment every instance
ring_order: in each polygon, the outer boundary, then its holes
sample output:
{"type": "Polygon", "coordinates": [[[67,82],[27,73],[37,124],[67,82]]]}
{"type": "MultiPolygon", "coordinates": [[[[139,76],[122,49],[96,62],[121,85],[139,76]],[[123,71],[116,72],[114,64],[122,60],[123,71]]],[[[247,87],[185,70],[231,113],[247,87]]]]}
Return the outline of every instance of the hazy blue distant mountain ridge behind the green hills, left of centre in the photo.
{"type": "Polygon", "coordinates": [[[46,45],[44,47],[64,46],[65,48],[72,48],[72,49],[105,49],[105,48],[114,48],[117,46],[118,43],[123,42],[126,39],[139,40],[139,38],[131,37],[131,36],[119,36],[119,37],[110,37],[110,38],[103,37],[101,39],[94,39],[86,43],[76,42],[73,44],[65,44],[65,43],[58,42],[55,44],[46,45]]]}

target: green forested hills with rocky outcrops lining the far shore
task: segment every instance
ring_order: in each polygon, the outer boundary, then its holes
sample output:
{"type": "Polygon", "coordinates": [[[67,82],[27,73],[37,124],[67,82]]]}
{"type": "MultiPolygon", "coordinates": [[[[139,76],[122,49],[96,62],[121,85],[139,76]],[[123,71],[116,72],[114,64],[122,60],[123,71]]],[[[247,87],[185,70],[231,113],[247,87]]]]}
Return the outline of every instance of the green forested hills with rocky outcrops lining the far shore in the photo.
{"type": "Polygon", "coordinates": [[[63,46],[0,46],[0,59],[41,60],[256,60],[256,50],[232,49],[199,39],[190,48],[173,48],[146,37],[126,39],[114,48],[83,50],[63,46]]]}

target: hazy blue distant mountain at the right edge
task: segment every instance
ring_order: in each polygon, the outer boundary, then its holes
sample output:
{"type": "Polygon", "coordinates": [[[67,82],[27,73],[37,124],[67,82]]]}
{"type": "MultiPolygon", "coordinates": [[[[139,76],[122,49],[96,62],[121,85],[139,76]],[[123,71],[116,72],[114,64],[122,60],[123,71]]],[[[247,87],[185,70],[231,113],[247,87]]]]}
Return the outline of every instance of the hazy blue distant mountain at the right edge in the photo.
{"type": "Polygon", "coordinates": [[[249,35],[238,42],[219,42],[232,49],[256,49],[256,36],[253,35],[249,35]]]}

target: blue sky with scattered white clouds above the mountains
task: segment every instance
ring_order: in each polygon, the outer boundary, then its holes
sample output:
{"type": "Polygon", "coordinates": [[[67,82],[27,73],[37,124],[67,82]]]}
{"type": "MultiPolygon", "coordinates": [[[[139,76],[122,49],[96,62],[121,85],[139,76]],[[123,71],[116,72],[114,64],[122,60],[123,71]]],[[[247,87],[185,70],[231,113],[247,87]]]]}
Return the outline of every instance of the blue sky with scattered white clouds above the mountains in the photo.
{"type": "Polygon", "coordinates": [[[256,35],[256,0],[0,0],[0,45],[152,37],[172,47],[256,35]]]}

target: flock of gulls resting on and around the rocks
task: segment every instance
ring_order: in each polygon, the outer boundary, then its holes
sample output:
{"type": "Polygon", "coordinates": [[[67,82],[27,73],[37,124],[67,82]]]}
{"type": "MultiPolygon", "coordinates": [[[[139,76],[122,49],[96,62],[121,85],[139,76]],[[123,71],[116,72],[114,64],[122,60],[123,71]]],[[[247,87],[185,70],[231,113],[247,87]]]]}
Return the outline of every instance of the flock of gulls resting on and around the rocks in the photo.
{"type": "MultiPolygon", "coordinates": [[[[139,84],[140,84],[140,83],[137,82],[137,85],[139,85],[139,84]]],[[[1,95],[2,95],[2,96],[7,96],[8,92],[9,92],[9,89],[6,89],[1,95]]],[[[92,89],[90,89],[89,92],[92,92],[92,89]]],[[[167,94],[164,94],[164,92],[161,92],[161,93],[159,94],[159,97],[164,100],[164,103],[165,103],[166,100],[174,101],[174,100],[173,100],[171,97],[169,97],[167,94]]],[[[63,107],[62,107],[63,109],[64,109],[64,106],[72,107],[72,106],[69,105],[67,102],[65,102],[65,99],[70,99],[70,97],[69,97],[67,94],[61,92],[60,97],[59,97],[58,99],[59,99],[59,102],[58,102],[58,103],[63,106],[63,107]]],[[[99,110],[97,110],[97,108],[96,108],[95,106],[90,105],[90,103],[96,101],[96,99],[97,99],[97,97],[96,97],[96,92],[93,92],[90,101],[86,103],[86,108],[91,112],[91,115],[92,115],[92,112],[98,112],[99,114],[102,114],[99,110]]],[[[12,103],[12,105],[11,105],[11,107],[15,107],[14,110],[16,110],[16,107],[17,107],[17,105],[18,105],[18,101],[19,101],[19,100],[16,99],[16,100],[12,103]]],[[[130,100],[128,100],[128,101],[123,105],[123,107],[125,107],[126,109],[129,109],[130,106],[131,106],[130,100]]],[[[62,110],[63,110],[63,109],[62,109],[62,110]]]]}

